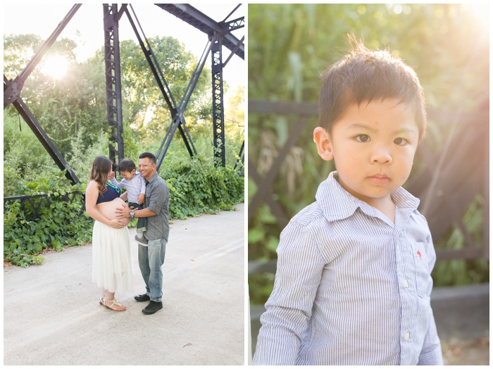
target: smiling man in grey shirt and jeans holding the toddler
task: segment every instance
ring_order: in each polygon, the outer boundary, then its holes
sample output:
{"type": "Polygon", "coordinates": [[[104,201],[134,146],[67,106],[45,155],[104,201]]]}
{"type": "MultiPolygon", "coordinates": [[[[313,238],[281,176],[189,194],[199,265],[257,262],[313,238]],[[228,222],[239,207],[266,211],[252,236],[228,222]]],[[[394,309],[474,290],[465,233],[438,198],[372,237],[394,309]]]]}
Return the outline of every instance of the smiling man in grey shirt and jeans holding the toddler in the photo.
{"type": "Polygon", "coordinates": [[[144,314],[154,314],[163,308],[163,270],[168,243],[169,226],[169,189],[156,171],[156,156],[145,152],[139,156],[139,173],[146,180],[146,199],[144,208],[120,208],[118,218],[147,218],[147,230],[144,237],[147,244],[139,242],[139,268],[146,293],[135,296],[137,301],[149,301],[142,310],[144,314]]]}

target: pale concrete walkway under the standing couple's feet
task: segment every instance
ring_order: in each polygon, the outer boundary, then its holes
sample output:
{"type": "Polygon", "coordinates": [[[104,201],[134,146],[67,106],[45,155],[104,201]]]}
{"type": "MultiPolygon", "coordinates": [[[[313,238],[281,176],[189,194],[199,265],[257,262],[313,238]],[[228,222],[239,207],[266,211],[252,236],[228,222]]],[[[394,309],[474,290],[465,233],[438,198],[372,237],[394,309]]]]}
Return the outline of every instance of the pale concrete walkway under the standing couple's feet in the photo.
{"type": "MultiPolygon", "coordinates": [[[[173,221],[154,315],[133,294],[117,296],[125,312],[99,305],[91,245],[4,268],[4,365],[243,365],[244,204],[236,208],[173,221]]],[[[132,258],[142,294],[135,241],[132,258]]]]}

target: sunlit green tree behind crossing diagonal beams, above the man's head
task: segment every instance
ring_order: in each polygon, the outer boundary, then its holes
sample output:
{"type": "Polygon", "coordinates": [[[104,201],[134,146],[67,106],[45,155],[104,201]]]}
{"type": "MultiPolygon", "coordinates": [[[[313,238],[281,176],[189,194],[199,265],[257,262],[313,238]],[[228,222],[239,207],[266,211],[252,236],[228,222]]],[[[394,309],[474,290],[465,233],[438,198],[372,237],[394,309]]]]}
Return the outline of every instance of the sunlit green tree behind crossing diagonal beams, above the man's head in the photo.
{"type": "MultiPolygon", "coordinates": [[[[148,41],[175,104],[178,105],[198,61],[191,52],[185,50],[184,44],[173,37],[151,37],[148,41]]],[[[142,49],[135,42],[127,40],[120,43],[120,54],[125,121],[139,133],[144,144],[156,137],[164,137],[171,121],[170,110],[142,49]]],[[[211,98],[204,98],[211,96],[210,80],[210,69],[204,68],[185,112],[185,120],[190,130],[197,118],[207,115],[207,107],[210,109],[211,98]]],[[[171,96],[168,98],[171,99],[171,96]]]]}

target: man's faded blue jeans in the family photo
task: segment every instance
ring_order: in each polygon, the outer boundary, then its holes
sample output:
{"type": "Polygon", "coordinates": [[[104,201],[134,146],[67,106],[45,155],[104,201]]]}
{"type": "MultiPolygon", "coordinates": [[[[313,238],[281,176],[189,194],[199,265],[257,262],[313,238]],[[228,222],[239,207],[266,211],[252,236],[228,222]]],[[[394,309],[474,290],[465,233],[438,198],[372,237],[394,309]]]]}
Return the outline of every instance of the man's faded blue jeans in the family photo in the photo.
{"type": "Polygon", "coordinates": [[[166,239],[149,240],[147,246],[139,244],[139,268],[147,294],[151,301],[159,302],[163,298],[163,270],[166,254],[166,239]]]}

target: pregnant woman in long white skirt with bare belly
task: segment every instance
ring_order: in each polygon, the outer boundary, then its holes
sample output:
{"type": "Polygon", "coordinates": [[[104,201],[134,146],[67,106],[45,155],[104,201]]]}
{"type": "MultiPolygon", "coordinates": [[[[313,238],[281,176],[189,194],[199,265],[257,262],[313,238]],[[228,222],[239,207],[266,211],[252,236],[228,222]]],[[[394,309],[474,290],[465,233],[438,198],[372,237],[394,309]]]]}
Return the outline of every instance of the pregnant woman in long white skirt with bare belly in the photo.
{"type": "Polygon", "coordinates": [[[95,220],[92,229],[92,282],[103,288],[99,304],[113,311],[127,308],[115,294],[133,293],[130,259],[130,218],[117,220],[115,210],[125,204],[120,189],[108,182],[111,161],[98,156],[92,163],[86,189],[86,213],[95,220]]]}

